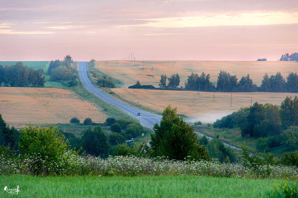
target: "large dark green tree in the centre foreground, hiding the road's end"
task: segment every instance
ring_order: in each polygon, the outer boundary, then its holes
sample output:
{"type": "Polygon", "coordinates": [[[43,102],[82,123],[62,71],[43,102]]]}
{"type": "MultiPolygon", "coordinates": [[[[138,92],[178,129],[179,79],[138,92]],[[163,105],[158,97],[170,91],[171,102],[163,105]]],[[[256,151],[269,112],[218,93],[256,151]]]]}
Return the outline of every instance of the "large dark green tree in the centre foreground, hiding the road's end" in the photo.
{"type": "Polygon", "coordinates": [[[177,116],[177,107],[167,106],[160,125],[156,123],[153,130],[150,141],[153,156],[168,156],[176,160],[209,160],[206,148],[197,143],[193,127],[177,116]]]}

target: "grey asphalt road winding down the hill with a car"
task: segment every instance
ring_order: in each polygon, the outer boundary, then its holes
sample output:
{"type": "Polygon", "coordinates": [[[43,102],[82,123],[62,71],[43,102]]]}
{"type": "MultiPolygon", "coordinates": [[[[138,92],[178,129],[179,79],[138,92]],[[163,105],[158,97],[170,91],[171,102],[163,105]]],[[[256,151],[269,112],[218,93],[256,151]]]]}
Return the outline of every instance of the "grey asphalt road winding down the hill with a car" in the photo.
{"type": "MultiPolygon", "coordinates": [[[[99,98],[107,101],[108,103],[111,103],[112,105],[115,105],[115,107],[120,108],[128,115],[132,116],[134,119],[137,119],[140,121],[142,126],[145,126],[149,129],[153,129],[153,126],[155,123],[160,123],[160,120],[162,119],[161,115],[157,115],[154,113],[150,113],[144,110],[139,110],[135,107],[131,107],[123,102],[120,102],[108,94],[103,93],[99,89],[97,89],[94,86],[94,82],[91,82],[88,78],[88,73],[86,71],[86,62],[80,62],[79,64],[79,75],[83,82],[83,85],[92,93],[94,93],[99,98]],[[137,116],[137,113],[141,113],[141,116],[137,116]]],[[[136,99],[137,100],[137,99],[136,99]]]]}

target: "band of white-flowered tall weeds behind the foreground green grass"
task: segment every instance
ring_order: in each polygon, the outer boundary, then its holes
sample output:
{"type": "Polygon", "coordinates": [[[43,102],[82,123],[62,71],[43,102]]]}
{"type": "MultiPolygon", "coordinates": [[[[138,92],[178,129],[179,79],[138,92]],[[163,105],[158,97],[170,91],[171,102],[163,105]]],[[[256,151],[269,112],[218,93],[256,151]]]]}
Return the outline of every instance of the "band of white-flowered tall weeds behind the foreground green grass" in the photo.
{"type": "Polygon", "coordinates": [[[195,175],[233,178],[297,178],[297,167],[260,166],[258,172],[246,168],[241,163],[221,164],[218,161],[176,161],[164,157],[153,159],[135,156],[110,156],[102,159],[94,156],[78,156],[74,152],[66,152],[58,162],[46,165],[39,154],[22,159],[21,156],[0,156],[0,174],[36,175],[44,176],[143,176],[143,175],[195,175]],[[39,166],[36,164],[44,164],[39,166]],[[262,173],[262,174],[260,174],[262,173]]]}

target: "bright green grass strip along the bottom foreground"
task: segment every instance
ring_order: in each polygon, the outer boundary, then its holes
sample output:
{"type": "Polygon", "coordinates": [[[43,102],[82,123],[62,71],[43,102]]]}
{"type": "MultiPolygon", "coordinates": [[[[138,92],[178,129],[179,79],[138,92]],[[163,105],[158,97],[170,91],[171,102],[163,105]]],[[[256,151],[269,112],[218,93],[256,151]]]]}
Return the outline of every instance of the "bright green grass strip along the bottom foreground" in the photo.
{"type": "Polygon", "coordinates": [[[12,196],[0,191],[0,197],[267,197],[272,179],[216,178],[208,176],[141,177],[35,177],[0,176],[4,189],[15,189],[12,196]]]}

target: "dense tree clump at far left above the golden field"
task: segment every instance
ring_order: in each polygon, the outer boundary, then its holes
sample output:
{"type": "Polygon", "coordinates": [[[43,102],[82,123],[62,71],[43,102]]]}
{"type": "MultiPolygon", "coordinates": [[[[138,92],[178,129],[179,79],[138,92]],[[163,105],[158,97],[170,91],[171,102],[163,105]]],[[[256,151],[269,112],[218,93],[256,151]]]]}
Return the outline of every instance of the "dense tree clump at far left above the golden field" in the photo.
{"type": "Polygon", "coordinates": [[[43,87],[46,82],[43,69],[34,69],[17,62],[15,65],[0,65],[0,85],[8,87],[43,87]]]}

